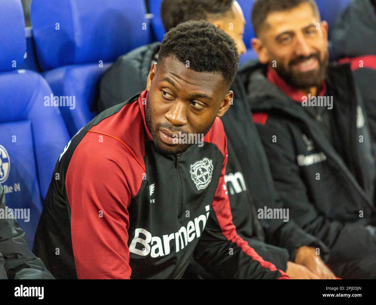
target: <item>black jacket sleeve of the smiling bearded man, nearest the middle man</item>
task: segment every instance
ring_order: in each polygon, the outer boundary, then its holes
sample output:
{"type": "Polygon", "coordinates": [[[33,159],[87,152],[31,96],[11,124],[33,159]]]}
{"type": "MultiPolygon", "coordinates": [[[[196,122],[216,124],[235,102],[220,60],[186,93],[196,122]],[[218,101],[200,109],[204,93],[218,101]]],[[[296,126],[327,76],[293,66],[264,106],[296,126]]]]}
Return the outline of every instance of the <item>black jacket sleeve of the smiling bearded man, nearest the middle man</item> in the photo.
{"type": "Polygon", "coordinates": [[[362,224],[329,219],[318,213],[310,202],[296,162],[293,138],[283,120],[269,116],[265,125],[258,125],[258,130],[274,186],[289,208],[290,217],[307,233],[320,239],[330,249],[331,256],[337,259],[354,259],[359,257],[359,253],[369,251],[367,244],[374,244],[373,237],[362,224]],[[276,136],[276,142],[272,141],[273,136],[276,136]]]}

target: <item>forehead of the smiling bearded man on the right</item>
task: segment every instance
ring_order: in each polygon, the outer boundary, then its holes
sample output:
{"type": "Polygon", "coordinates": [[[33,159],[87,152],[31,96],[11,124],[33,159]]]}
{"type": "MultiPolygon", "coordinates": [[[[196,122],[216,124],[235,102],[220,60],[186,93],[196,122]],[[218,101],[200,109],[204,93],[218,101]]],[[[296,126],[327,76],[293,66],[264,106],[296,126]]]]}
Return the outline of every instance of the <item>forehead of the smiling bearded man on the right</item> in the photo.
{"type": "Polygon", "coordinates": [[[301,30],[311,24],[320,23],[309,3],[302,3],[288,11],[271,12],[268,14],[264,26],[265,30],[273,34],[301,30]]]}

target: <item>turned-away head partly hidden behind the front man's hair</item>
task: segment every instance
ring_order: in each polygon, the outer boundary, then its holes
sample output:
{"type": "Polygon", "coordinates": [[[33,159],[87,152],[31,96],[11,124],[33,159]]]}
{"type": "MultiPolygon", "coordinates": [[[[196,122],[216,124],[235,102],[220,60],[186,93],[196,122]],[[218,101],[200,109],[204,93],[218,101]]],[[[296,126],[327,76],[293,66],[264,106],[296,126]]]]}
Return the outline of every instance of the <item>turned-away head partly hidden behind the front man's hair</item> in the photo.
{"type": "Polygon", "coordinates": [[[235,0],[163,0],[161,17],[166,32],[188,20],[206,20],[232,37],[239,54],[246,52],[243,42],[246,20],[235,0]]]}

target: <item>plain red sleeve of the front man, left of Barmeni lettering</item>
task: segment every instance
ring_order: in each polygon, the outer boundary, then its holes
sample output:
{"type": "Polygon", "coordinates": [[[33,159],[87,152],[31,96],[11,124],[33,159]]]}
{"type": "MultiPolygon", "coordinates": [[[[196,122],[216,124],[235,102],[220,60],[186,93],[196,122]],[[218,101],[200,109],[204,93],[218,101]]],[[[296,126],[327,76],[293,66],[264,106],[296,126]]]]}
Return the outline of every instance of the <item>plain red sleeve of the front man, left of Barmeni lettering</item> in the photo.
{"type": "Polygon", "coordinates": [[[106,139],[107,145],[118,150],[110,154],[105,148],[95,146],[98,142],[96,137],[96,134],[86,135],[77,146],[66,177],[77,277],[129,279],[127,230],[131,181],[132,177],[135,181],[141,177],[138,171],[130,169],[137,169],[139,165],[135,159],[129,158],[129,162],[133,163],[128,164],[128,170],[121,168],[118,164],[124,162],[120,159],[128,158],[121,152],[117,141],[106,139]],[[96,153],[90,154],[91,151],[96,153]]]}

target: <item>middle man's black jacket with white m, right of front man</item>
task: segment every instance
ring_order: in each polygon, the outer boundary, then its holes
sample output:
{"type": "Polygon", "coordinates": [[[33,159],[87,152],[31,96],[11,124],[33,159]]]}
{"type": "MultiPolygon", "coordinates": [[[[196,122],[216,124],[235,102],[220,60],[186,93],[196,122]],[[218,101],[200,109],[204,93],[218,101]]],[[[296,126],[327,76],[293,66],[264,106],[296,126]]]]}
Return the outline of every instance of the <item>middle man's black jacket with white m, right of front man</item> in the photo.
{"type": "Polygon", "coordinates": [[[286,270],[287,262],[294,261],[296,249],[301,246],[320,248],[321,258],[328,257],[327,247],[316,237],[302,230],[291,217],[259,219],[259,209],[282,209],[273,186],[270,168],[255,123],[247,116],[250,105],[244,103],[246,92],[237,75],[231,89],[233,104],[222,117],[227,136],[229,159],[226,182],[229,191],[234,224],[240,236],[257,249],[265,260],[286,270]],[[243,182],[243,183],[242,183],[243,182]]]}

